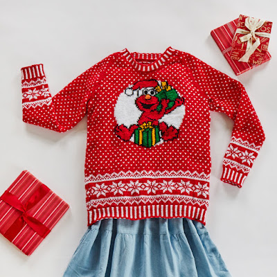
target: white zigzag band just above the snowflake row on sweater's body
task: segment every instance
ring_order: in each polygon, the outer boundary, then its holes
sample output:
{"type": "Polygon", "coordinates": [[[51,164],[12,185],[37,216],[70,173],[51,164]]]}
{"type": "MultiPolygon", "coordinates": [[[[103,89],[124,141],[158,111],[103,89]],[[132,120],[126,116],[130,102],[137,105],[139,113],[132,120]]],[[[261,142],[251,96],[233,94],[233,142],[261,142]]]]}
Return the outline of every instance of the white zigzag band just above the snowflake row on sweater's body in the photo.
{"type": "Polygon", "coordinates": [[[183,170],[164,170],[164,171],[147,171],[147,170],[141,170],[141,171],[127,171],[123,172],[120,171],[118,173],[112,172],[112,173],[106,173],[104,175],[98,174],[98,175],[89,175],[84,178],[84,184],[89,183],[96,183],[98,181],[114,181],[118,179],[142,179],[142,178],[186,178],[186,179],[195,179],[199,181],[206,181],[209,182],[210,175],[205,174],[204,172],[198,173],[196,171],[190,172],[186,170],[185,172],[183,170]]]}

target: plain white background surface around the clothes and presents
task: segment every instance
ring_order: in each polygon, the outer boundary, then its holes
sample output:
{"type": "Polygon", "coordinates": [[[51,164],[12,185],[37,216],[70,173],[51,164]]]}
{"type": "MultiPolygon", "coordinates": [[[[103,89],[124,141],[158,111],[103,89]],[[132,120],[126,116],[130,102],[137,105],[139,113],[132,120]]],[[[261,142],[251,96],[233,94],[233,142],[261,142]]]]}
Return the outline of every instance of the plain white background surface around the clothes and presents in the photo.
{"type": "MultiPolygon", "coordinates": [[[[59,134],[21,121],[23,66],[43,63],[54,96],[107,55],[186,51],[249,93],[266,141],[242,188],[220,181],[233,122],[211,113],[211,203],[206,227],[233,277],[276,275],[277,2],[0,1],[0,193],[26,169],[69,203],[53,231],[27,257],[0,236],[0,276],[62,276],[87,229],[84,193],[86,118],[59,134]],[[235,77],[210,32],[240,14],[274,22],[272,60],[235,77]]],[[[132,277],[132,276],[130,276],[132,277]]],[[[147,277],[147,276],[146,276],[147,277]]]]}

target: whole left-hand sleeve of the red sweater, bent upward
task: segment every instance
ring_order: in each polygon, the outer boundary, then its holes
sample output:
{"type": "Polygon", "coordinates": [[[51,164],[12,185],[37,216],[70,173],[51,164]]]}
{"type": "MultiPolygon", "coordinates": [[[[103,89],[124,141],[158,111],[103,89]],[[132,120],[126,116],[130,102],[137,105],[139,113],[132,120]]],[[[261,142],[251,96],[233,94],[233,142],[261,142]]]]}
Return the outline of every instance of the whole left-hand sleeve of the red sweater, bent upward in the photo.
{"type": "Polygon", "coordinates": [[[101,70],[102,63],[99,62],[52,97],[43,64],[22,68],[24,122],[56,132],[66,132],[77,125],[87,113],[87,102],[101,70]]]}

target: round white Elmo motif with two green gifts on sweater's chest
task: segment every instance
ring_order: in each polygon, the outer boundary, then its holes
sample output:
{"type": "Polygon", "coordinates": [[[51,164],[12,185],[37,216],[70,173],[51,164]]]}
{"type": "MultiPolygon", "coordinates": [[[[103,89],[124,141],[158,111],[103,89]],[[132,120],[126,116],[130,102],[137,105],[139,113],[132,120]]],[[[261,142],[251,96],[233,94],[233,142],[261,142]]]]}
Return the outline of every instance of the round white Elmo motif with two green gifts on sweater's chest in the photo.
{"type": "Polygon", "coordinates": [[[118,97],[114,111],[116,136],[151,147],[177,139],[184,118],[184,98],[167,82],[141,80],[118,97]]]}

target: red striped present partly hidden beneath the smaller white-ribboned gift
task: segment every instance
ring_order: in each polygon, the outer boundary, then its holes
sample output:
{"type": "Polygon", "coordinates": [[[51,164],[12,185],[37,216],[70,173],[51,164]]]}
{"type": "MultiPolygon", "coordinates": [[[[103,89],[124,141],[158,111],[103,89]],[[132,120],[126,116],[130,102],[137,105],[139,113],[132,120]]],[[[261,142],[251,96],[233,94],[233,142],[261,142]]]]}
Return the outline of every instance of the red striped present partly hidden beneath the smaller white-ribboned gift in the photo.
{"type": "MultiPolygon", "coordinates": [[[[249,71],[250,69],[253,69],[253,67],[258,66],[258,64],[250,64],[248,62],[238,62],[238,60],[232,60],[231,59],[231,50],[232,50],[232,41],[233,37],[235,35],[235,30],[237,28],[238,24],[238,18],[223,25],[219,28],[216,28],[215,30],[211,31],[211,35],[213,39],[215,39],[215,42],[217,43],[217,46],[220,48],[220,51],[222,51],[222,54],[226,58],[227,62],[229,62],[231,68],[235,72],[235,75],[240,75],[244,73],[245,71],[249,71]]],[[[262,63],[267,62],[271,59],[271,55],[269,52],[265,54],[264,60],[262,60],[262,63]]]]}

